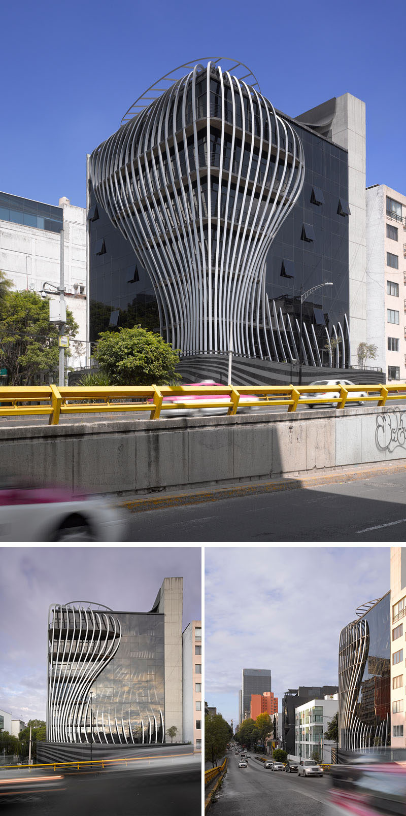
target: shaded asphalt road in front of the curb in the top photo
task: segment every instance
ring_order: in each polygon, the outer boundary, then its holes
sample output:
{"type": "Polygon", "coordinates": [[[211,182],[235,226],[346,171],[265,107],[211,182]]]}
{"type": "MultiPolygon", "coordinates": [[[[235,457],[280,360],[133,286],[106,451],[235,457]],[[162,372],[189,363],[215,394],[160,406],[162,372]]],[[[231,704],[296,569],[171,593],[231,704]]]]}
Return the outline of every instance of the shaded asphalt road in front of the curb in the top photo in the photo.
{"type": "MultiPolygon", "coordinates": [[[[345,479],[345,477],[342,477],[345,479]]],[[[406,472],[130,516],[135,542],[406,540],[406,472]]]]}

